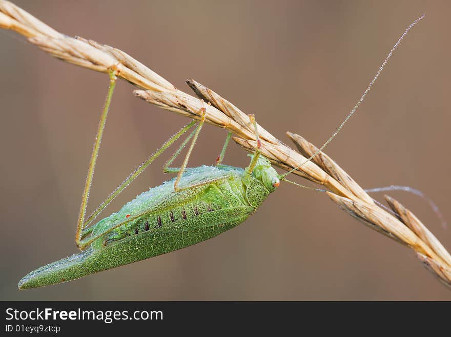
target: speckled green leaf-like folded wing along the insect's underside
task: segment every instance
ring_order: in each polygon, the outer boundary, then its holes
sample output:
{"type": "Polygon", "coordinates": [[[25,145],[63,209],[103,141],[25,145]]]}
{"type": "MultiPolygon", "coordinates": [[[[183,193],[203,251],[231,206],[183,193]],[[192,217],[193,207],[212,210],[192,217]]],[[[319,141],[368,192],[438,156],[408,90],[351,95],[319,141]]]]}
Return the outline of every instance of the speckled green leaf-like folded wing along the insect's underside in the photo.
{"type": "Polygon", "coordinates": [[[193,223],[182,222],[158,232],[149,230],[147,233],[125,237],[102,249],[89,248],[80,254],[36,269],[20,280],[18,287],[27,289],[71,281],[98,271],[185,248],[235,227],[246,220],[253,210],[252,207],[241,206],[203,213],[197,218],[198,225],[208,225],[193,226],[193,223]]]}

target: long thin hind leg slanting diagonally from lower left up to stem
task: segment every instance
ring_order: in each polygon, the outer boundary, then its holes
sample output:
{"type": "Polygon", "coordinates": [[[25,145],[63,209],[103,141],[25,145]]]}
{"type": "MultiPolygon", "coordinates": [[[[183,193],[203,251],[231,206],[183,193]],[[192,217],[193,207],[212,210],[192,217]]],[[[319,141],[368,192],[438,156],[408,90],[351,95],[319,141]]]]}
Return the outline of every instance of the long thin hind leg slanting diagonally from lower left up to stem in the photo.
{"type": "MultiPolygon", "coordinates": [[[[103,203],[101,203],[96,210],[88,217],[88,220],[86,221],[84,227],[89,225],[95,217],[105,208],[108,206],[108,204],[120,193],[122,192],[142,171],[144,171],[161,153],[163,153],[169,146],[171,146],[181,135],[183,135],[185,132],[187,132],[193,125],[196,123],[196,121],[192,121],[191,123],[185,125],[182,127],[176,134],[174,134],[169,140],[163,144],[155,153],[153,153],[151,156],[147,158],[145,162],[143,162],[141,165],[139,165],[125,180],[122,182],[116,189],[105,199],[103,203]]],[[[91,233],[92,227],[88,228],[87,230],[83,231],[80,236],[78,236],[78,244],[81,244],[80,240],[86,237],[89,233],[91,233]]],[[[80,247],[80,246],[78,246],[80,247]]],[[[84,245],[83,247],[86,247],[84,245]]]]}

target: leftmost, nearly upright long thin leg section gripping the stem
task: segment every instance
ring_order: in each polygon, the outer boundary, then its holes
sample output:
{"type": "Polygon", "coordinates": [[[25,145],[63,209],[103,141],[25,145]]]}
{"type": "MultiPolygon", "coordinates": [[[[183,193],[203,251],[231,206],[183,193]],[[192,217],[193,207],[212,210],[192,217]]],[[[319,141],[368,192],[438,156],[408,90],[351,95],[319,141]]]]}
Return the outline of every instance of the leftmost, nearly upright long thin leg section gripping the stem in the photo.
{"type": "Polygon", "coordinates": [[[107,122],[107,115],[108,115],[108,110],[110,108],[111,97],[113,96],[114,87],[116,85],[117,77],[114,74],[113,69],[111,69],[109,71],[109,75],[110,75],[110,86],[108,88],[107,99],[105,101],[104,108],[100,115],[100,122],[99,122],[99,125],[97,128],[97,133],[95,135],[95,142],[94,142],[94,147],[93,147],[92,153],[91,153],[91,160],[89,161],[89,168],[88,168],[88,174],[86,176],[85,189],[83,190],[83,195],[81,196],[81,206],[80,206],[80,212],[78,214],[77,230],[75,233],[75,243],[77,244],[77,246],[80,241],[81,231],[85,227],[86,206],[88,205],[89,191],[91,190],[92,177],[94,175],[95,163],[97,161],[97,155],[98,155],[98,151],[100,149],[100,142],[102,140],[102,135],[104,133],[105,124],[107,122]]]}

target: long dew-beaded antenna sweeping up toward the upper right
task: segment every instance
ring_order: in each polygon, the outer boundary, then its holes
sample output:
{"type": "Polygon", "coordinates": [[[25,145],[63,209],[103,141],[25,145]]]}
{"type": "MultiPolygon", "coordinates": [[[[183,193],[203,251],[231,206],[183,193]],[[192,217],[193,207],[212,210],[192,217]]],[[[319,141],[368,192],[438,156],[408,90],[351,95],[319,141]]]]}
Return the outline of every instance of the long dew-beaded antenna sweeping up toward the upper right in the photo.
{"type": "Polygon", "coordinates": [[[368,85],[368,87],[366,88],[366,90],[363,92],[363,94],[360,96],[360,100],[357,102],[357,104],[354,106],[354,108],[352,108],[352,110],[350,111],[350,113],[347,114],[346,118],[344,118],[343,122],[341,123],[341,125],[337,128],[337,130],[332,134],[332,136],[314,153],[312,154],[307,160],[305,160],[301,165],[295,167],[294,169],[292,169],[291,171],[282,174],[280,176],[280,180],[285,180],[285,177],[287,175],[289,175],[290,173],[296,171],[297,169],[299,169],[301,166],[303,166],[305,163],[310,162],[314,157],[316,157],[318,155],[318,153],[320,153],[322,150],[324,150],[324,148],[329,145],[330,142],[332,142],[332,140],[336,137],[336,135],[340,132],[340,130],[343,128],[343,126],[346,124],[346,122],[348,120],[350,120],[350,118],[352,117],[352,115],[354,114],[354,112],[356,112],[356,110],[358,109],[358,107],[360,106],[360,104],[362,104],[362,102],[365,99],[366,94],[371,90],[371,87],[373,86],[373,84],[376,82],[377,78],[379,77],[380,73],[382,72],[382,70],[384,69],[385,65],[388,63],[388,60],[390,57],[392,57],[393,52],[395,51],[396,48],[398,48],[398,46],[401,44],[401,41],[404,39],[404,37],[407,35],[407,33],[409,32],[409,30],[411,30],[421,19],[423,19],[426,15],[422,14],[419,18],[417,18],[410,26],[408,26],[406,28],[406,30],[404,31],[404,33],[401,35],[400,38],[398,38],[398,41],[395,43],[395,45],[393,46],[392,50],[390,50],[390,52],[387,54],[387,56],[385,57],[385,60],[382,62],[382,65],[379,67],[379,70],[377,71],[376,75],[374,75],[373,80],[370,82],[370,84],[368,85]]]}

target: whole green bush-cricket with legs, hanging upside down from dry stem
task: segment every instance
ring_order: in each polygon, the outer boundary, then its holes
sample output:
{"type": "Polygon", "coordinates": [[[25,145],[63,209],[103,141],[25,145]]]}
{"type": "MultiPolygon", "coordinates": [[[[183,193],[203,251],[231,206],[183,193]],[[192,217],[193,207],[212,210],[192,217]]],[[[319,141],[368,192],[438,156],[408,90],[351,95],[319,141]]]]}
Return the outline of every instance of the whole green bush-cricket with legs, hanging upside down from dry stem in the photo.
{"type": "Polygon", "coordinates": [[[247,168],[221,164],[231,132],[227,135],[215,166],[187,168],[189,156],[205,120],[205,108],[202,107],[197,127],[164,166],[164,172],[177,173],[176,178],[138,195],[117,213],[88,227],[139,173],[196,124],[193,121],[181,128],[130,174],[85,221],[88,195],[115,81],[116,76],[111,71],[110,87],[100,117],[77,223],[75,242],[81,253],[30,272],[19,281],[19,289],[75,280],[210,239],[246,220],[279,186],[280,180],[285,180],[286,174],[279,175],[260,154],[261,143],[253,115],[250,115],[250,120],[255,128],[258,145],[251,154],[251,163],[247,168]],[[169,167],[191,138],[182,166],[169,167]]]}

